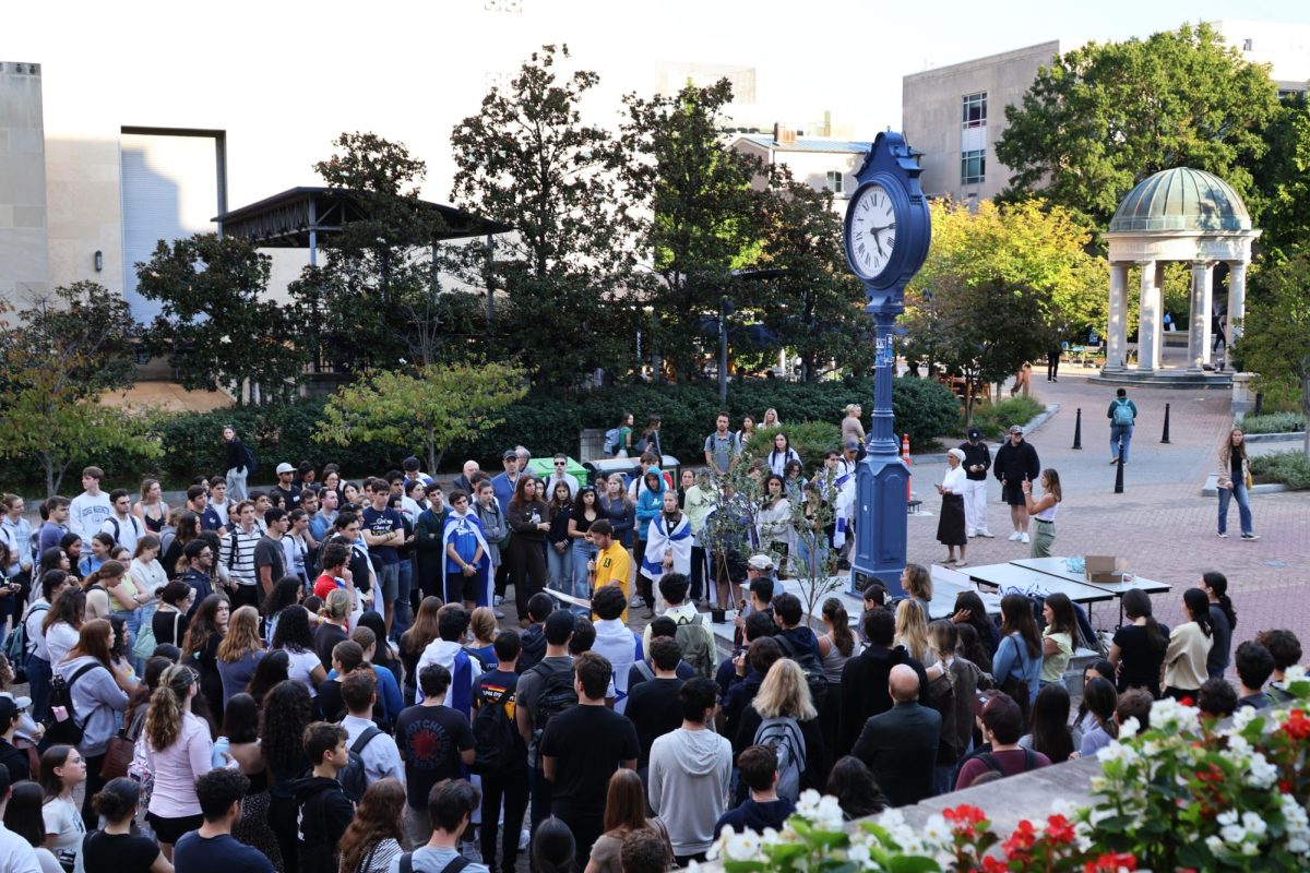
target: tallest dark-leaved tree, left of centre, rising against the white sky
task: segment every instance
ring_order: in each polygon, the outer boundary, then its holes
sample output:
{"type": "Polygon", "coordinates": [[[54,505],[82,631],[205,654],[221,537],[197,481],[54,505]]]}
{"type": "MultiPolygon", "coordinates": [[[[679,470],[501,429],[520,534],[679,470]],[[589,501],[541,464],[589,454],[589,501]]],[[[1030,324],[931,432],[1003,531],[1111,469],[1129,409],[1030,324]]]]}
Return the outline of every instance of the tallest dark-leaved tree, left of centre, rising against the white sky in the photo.
{"type": "MultiPolygon", "coordinates": [[[[558,65],[567,58],[567,46],[542,46],[451,134],[456,205],[517,230],[495,243],[506,305],[489,331],[491,351],[507,357],[550,340],[549,353],[524,359],[538,386],[621,370],[634,334],[629,221],[614,175],[621,149],[582,122],[579,106],[600,79],[566,77],[558,65]]],[[[465,254],[482,264],[489,253],[472,243],[465,254]]]]}

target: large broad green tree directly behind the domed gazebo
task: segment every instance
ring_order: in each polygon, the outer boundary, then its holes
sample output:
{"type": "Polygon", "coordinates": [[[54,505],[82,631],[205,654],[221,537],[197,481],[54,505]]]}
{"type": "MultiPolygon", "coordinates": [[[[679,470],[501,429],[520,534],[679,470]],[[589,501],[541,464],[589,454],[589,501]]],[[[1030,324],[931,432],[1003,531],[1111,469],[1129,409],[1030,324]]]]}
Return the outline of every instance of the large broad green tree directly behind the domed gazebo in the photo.
{"type": "Polygon", "coordinates": [[[1038,71],[996,144],[1013,175],[1003,196],[1035,191],[1104,225],[1144,178],[1178,166],[1229,182],[1254,216],[1251,168],[1277,113],[1268,68],[1209,25],[1087,43],[1038,71]]]}

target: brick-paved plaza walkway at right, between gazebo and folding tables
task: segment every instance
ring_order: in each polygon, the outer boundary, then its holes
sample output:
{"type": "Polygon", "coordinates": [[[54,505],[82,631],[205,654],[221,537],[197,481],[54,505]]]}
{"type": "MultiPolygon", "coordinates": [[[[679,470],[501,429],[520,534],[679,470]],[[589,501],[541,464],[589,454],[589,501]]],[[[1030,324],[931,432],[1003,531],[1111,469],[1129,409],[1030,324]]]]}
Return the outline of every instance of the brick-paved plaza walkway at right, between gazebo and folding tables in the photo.
{"type": "MultiPolygon", "coordinates": [[[[1138,419],[1129,463],[1124,467],[1124,493],[1114,493],[1115,467],[1110,459],[1110,423],[1106,407],[1112,386],[1066,373],[1058,382],[1045,381],[1044,368],[1034,373],[1034,394],[1060,411],[1028,435],[1043,467],[1055,467],[1064,486],[1064,503],[1056,521],[1057,555],[1114,554],[1128,559],[1129,569],[1148,579],[1174,585],[1157,596],[1157,616],[1179,620],[1183,589],[1197,585],[1205,571],[1229,577],[1229,593],[1238,613],[1238,641],[1258,631],[1285,627],[1297,633],[1310,653],[1310,610],[1298,596],[1310,590],[1310,492],[1285,492],[1252,497],[1255,531],[1262,539],[1237,537],[1237,505],[1229,509],[1227,539],[1217,537],[1217,499],[1200,495],[1205,476],[1217,467],[1216,453],[1231,425],[1230,394],[1226,391],[1176,391],[1129,389],[1138,419]],[[1170,444],[1159,442],[1165,404],[1170,404],[1170,444]],[[1082,450],[1073,445],[1077,410],[1082,408],[1082,450]]],[[[1254,444],[1260,453],[1298,444],[1254,444]]],[[[993,446],[994,454],[996,446],[993,446]]],[[[945,556],[935,541],[933,490],[945,463],[914,467],[913,488],[933,517],[909,520],[909,560],[929,564],[945,556]]],[[[1009,542],[1009,509],[1000,503],[1001,488],[989,486],[988,518],[996,539],[969,541],[971,564],[992,564],[1026,558],[1028,546],[1009,542]]],[[[1110,611],[1099,610],[1099,620],[1110,611]]]]}

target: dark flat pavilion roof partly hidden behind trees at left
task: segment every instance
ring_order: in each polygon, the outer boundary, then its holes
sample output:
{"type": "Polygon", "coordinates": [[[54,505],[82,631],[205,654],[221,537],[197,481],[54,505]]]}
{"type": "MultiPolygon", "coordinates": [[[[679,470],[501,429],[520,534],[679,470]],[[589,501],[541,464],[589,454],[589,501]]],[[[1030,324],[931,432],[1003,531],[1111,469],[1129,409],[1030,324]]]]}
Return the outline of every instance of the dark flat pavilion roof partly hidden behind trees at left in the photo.
{"type": "MultiPolygon", "coordinates": [[[[507,233],[512,226],[440,203],[419,200],[441,219],[432,242],[507,233]]],[[[255,242],[261,249],[308,249],[309,232],[329,236],[342,225],[363,219],[364,212],[350,191],[328,187],[288,188],[258,203],[212,219],[228,236],[255,242]]],[[[320,238],[318,245],[324,241],[320,238]]]]}

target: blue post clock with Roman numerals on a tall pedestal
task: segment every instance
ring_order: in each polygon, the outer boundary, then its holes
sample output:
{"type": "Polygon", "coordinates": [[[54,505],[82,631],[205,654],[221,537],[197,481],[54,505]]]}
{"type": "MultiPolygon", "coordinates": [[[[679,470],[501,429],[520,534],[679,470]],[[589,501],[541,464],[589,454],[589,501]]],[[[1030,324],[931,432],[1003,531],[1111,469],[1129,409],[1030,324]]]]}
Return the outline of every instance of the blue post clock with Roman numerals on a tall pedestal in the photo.
{"type": "Polygon", "coordinates": [[[876,343],[874,421],[855,479],[853,592],[876,579],[889,593],[903,593],[909,467],[900,458],[892,421],[892,329],[905,312],[905,285],[924,266],[933,237],[921,171],[903,135],[879,134],[855,173],[846,208],[846,260],[865,285],[865,312],[874,318],[876,343]]]}

